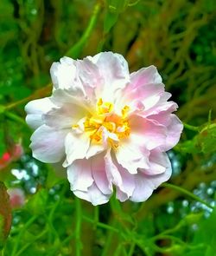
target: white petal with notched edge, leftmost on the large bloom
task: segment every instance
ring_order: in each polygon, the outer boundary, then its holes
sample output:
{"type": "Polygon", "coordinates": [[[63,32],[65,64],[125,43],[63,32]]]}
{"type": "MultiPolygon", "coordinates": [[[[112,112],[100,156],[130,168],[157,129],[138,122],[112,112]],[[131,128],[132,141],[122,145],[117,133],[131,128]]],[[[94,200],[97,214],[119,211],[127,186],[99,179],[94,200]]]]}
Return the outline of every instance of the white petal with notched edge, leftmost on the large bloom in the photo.
{"type": "Polygon", "coordinates": [[[41,115],[47,113],[54,107],[54,103],[49,98],[29,102],[25,106],[25,111],[27,112],[26,122],[29,127],[33,129],[39,128],[44,123],[41,115]]]}

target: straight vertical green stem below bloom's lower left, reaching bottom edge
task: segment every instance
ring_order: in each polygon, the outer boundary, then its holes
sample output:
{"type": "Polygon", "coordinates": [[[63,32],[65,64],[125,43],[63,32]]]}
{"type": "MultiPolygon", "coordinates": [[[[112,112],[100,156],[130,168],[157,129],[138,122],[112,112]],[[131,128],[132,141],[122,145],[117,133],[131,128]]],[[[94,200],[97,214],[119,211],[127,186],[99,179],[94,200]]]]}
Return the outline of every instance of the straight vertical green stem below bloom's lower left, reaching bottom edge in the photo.
{"type": "Polygon", "coordinates": [[[75,199],[76,204],[76,227],[75,227],[75,240],[76,240],[76,256],[81,255],[82,244],[80,240],[82,209],[79,198],[75,199]]]}

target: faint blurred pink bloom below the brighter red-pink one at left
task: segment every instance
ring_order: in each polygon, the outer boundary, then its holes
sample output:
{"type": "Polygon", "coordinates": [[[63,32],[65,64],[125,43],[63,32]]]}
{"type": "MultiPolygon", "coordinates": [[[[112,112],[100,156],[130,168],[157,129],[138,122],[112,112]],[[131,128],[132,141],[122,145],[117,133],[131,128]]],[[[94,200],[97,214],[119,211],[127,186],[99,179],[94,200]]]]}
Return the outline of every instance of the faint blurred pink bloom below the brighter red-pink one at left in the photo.
{"type": "Polygon", "coordinates": [[[10,205],[12,208],[22,207],[25,203],[25,194],[21,188],[8,189],[10,205]]]}

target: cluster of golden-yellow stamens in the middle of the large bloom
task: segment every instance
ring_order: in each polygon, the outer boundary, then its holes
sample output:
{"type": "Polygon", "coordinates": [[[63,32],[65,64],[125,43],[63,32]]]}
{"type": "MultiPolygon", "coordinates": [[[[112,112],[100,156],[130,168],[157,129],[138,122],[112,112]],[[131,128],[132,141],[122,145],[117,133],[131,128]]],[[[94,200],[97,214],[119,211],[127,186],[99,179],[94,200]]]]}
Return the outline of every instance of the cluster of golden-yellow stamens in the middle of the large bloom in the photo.
{"type": "Polygon", "coordinates": [[[113,108],[114,106],[111,102],[103,102],[100,98],[95,114],[91,117],[86,117],[84,130],[88,133],[90,139],[96,143],[101,143],[104,135],[106,135],[111,146],[117,148],[118,141],[130,135],[130,126],[127,119],[130,108],[124,106],[121,110],[121,115],[115,114],[113,108]]]}

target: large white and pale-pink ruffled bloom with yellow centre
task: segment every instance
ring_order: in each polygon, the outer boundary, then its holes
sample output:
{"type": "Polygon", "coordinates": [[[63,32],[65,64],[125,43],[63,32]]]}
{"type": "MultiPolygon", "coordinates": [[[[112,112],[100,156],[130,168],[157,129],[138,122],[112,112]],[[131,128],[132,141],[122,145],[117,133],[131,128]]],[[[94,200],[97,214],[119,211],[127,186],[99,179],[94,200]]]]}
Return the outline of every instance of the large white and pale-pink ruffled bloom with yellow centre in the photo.
{"type": "Polygon", "coordinates": [[[93,205],[107,202],[113,187],[120,201],[147,200],[168,181],[166,151],[182,131],[156,67],[130,74],[123,56],[102,52],[63,57],[50,71],[52,95],[25,108],[33,156],[62,162],[73,194],[93,205]]]}

